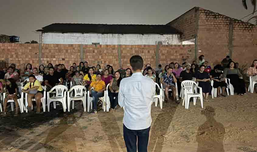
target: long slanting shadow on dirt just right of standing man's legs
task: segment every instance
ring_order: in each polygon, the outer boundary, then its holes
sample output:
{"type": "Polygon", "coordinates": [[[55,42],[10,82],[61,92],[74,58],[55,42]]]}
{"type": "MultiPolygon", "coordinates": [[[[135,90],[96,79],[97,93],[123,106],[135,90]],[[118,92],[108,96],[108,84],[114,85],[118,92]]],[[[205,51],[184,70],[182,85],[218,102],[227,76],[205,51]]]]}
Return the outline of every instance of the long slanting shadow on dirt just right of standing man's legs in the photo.
{"type": "Polygon", "coordinates": [[[167,133],[177,107],[178,104],[175,102],[166,103],[166,107],[162,109],[155,123],[151,125],[151,137],[148,143],[149,152],[161,152],[164,142],[163,135],[167,133]]]}

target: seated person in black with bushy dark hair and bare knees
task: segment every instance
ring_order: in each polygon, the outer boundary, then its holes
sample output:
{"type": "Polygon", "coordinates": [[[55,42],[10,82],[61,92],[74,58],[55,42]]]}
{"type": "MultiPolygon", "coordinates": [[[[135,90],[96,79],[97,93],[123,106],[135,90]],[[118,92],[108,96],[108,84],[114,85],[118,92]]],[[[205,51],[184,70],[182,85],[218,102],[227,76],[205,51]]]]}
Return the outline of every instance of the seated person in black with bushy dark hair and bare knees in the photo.
{"type": "Polygon", "coordinates": [[[221,97],[221,95],[223,97],[227,97],[227,95],[224,94],[227,83],[224,82],[224,78],[222,78],[222,69],[222,66],[220,64],[217,64],[210,72],[210,79],[213,80],[213,88],[217,88],[217,97],[221,97]],[[222,94],[220,92],[220,88],[222,89],[222,94]]]}

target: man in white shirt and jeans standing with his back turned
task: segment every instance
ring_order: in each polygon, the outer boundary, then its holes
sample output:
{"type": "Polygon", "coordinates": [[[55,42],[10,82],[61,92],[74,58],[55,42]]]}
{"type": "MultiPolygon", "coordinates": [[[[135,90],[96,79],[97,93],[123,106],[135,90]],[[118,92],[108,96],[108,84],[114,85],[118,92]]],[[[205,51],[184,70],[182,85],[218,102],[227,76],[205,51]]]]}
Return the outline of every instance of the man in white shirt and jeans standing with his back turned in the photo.
{"type": "Polygon", "coordinates": [[[124,106],[123,136],[127,152],[147,152],[155,82],[142,75],[142,68],[142,57],[132,56],[130,69],[133,74],[120,82],[119,105],[124,106]]]}

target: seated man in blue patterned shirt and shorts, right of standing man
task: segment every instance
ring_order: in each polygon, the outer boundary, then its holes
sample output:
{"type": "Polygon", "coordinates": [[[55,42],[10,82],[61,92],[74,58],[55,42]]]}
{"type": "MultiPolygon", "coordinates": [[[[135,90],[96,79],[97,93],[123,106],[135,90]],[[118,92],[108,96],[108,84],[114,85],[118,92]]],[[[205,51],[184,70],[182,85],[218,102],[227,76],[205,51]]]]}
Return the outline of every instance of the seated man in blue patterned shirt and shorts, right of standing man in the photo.
{"type": "Polygon", "coordinates": [[[177,79],[175,77],[175,75],[172,73],[172,67],[168,67],[167,72],[161,77],[161,84],[162,87],[165,88],[165,96],[167,98],[167,101],[170,102],[169,100],[169,94],[168,94],[168,90],[172,89],[172,96],[173,96],[173,101],[176,101],[176,87],[174,85],[174,83],[177,82],[177,79]]]}

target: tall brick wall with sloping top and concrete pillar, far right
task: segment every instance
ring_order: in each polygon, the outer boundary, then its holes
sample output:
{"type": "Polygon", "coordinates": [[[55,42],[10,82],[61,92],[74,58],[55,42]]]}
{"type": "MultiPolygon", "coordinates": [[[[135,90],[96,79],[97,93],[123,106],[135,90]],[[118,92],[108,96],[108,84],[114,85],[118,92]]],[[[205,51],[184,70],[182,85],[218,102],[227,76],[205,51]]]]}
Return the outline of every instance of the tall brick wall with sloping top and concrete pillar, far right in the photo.
{"type": "Polygon", "coordinates": [[[197,56],[203,54],[211,64],[220,64],[229,54],[229,22],[233,22],[232,59],[240,65],[257,58],[256,26],[219,13],[199,8],[197,56]]]}

